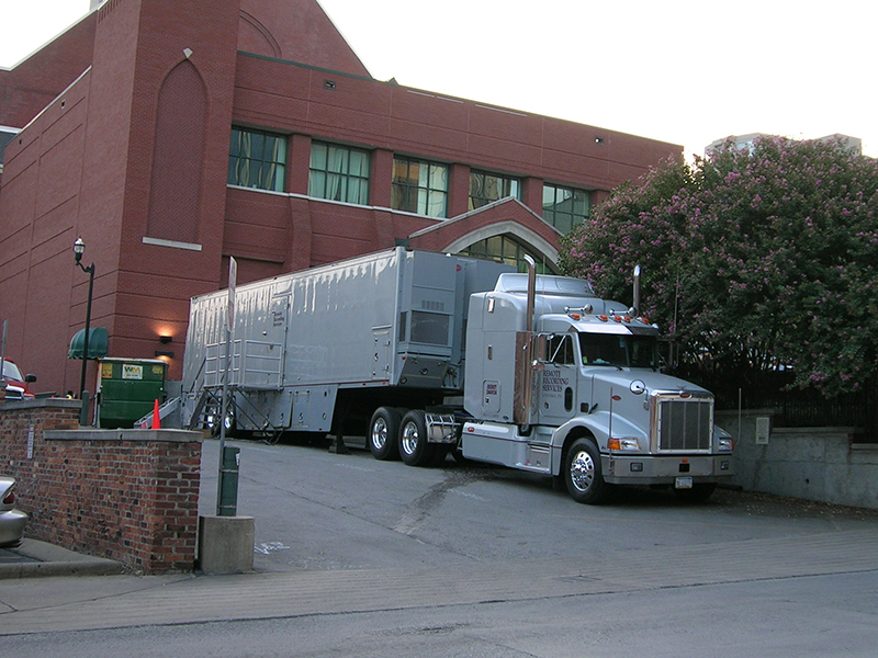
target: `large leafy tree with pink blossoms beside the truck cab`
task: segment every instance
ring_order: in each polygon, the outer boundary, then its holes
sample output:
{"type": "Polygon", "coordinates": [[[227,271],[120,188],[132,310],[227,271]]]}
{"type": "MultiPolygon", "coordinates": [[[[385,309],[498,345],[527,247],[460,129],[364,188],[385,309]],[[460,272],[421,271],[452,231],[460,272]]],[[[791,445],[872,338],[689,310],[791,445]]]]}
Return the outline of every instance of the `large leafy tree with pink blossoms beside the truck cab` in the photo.
{"type": "Polygon", "coordinates": [[[745,383],[856,390],[878,368],[878,161],[840,140],[727,144],[622,185],[563,239],[565,273],[631,298],[680,358],[745,383]]]}

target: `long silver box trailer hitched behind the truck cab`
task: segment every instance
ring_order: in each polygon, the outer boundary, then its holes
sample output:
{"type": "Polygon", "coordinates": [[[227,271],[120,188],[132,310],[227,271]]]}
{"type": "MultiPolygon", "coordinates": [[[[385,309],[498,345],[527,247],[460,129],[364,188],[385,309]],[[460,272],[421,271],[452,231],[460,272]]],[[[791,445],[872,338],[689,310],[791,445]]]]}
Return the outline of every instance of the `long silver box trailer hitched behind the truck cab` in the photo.
{"type": "MultiPolygon", "coordinates": [[[[470,295],[510,271],[399,247],[238,286],[227,430],[361,435],[379,407],[441,406],[462,392],[470,295]]],[[[184,427],[218,420],[227,314],[227,291],[191,302],[184,427]]]]}

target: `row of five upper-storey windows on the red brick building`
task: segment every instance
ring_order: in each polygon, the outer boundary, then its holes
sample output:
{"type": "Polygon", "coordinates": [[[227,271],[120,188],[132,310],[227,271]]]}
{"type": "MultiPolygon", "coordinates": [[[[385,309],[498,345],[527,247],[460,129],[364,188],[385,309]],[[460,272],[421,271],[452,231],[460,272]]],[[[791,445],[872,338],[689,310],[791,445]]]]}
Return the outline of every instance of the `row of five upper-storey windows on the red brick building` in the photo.
{"type": "MultiPolygon", "coordinates": [[[[286,138],[262,131],[232,128],[228,154],[228,183],[282,192],[286,163],[286,138]]],[[[312,141],[308,166],[308,196],[369,204],[370,152],[364,149],[312,141]]],[[[391,207],[446,217],[448,213],[449,167],[416,158],[393,159],[391,207]]],[[[517,178],[472,170],[470,209],[513,196],[521,198],[517,178]]],[[[545,183],[542,216],[562,234],[588,216],[588,192],[545,183]]]]}

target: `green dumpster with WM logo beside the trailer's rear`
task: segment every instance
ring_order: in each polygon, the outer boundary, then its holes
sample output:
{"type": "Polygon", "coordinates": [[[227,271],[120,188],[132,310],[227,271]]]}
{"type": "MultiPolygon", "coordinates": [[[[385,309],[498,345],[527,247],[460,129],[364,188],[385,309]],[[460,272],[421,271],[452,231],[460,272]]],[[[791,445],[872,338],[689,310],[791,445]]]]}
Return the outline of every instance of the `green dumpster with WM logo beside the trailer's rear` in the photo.
{"type": "Polygon", "coordinates": [[[168,364],[158,359],[101,359],[98,368],[98,427],[131,428],[165,401],[168,364]]]}

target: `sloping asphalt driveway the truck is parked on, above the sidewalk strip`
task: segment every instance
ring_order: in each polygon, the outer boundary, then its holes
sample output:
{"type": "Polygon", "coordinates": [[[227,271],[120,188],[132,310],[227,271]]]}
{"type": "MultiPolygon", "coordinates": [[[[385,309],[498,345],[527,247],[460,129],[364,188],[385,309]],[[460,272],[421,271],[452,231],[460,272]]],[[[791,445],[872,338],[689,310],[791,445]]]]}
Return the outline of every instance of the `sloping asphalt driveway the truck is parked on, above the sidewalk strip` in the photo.
{"type": "MultiPolygon", "coordinates": [[[[589,560],[626,551],[705,546],[870,527],[878,511],[718,490],[706,503],[622,490],[574,502],[550,478],[503,467],[414,468],[325,444],[240,447],[238,514],[256,519],[263,571],[589,560]]],[[[201,513],[215,513],[218,443],[204,444],[201,513]]],[[[876,554],[878,558],[878,553],[876,554]]]]}

